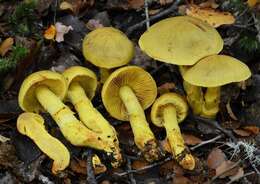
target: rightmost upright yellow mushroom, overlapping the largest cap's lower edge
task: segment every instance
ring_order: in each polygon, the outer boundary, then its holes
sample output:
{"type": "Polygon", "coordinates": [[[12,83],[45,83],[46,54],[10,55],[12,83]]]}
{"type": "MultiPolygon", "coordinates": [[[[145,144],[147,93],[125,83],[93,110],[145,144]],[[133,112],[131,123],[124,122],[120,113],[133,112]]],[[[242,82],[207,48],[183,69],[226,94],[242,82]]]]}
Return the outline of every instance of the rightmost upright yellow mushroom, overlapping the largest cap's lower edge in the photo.
{"type": "Polygon", "coordinates": [[[212,55],[189,68],[183,78],[192,85],[207,87],[200,115],[214,118],[219,111],[220,87],[250,76],[249,68],[241,61],[226,55],[212,55]]]}

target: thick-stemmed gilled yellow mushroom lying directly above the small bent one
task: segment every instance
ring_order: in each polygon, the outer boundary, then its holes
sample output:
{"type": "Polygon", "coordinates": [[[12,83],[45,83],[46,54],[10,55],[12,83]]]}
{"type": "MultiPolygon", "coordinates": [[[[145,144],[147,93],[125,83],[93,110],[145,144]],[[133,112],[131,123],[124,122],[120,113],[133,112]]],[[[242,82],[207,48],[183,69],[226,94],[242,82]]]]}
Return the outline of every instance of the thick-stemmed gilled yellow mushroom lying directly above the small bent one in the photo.
{"type": "Polygon", "coordinates": [[[71,144],[111,152],[107,142],[85,127],[74,116],[74,112],[62,102],[66,93],[66,80],[61,74],[47,70],[39,71],[23,81],[18,101],[24,111],[36,113],[47,111],[71,144]]]}

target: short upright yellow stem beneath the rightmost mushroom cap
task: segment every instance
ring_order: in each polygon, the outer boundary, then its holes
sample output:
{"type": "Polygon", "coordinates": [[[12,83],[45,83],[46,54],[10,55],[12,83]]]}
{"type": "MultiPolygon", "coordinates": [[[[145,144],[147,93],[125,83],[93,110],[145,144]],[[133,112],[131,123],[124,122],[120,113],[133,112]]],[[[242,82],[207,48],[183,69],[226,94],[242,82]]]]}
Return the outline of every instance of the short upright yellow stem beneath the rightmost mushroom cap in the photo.
{"type": "Polygon", "coordinates": [[[220,87],[209,87],[204,95],[204,104],[201,116],[206,118],[215,118],[219,111],[220,87]]]}

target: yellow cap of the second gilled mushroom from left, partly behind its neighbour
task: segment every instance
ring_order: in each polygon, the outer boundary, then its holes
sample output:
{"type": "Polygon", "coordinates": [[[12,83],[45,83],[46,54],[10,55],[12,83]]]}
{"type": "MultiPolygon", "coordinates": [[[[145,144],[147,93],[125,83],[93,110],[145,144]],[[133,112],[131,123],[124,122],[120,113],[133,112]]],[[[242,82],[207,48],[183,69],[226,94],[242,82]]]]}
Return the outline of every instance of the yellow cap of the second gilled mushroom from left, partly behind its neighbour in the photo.
{"type": "Polygon", "coordinates": [[[62,75],[67,80],[68,86],[71,82],[78,82],[85,90],[85,93],[89,99],[95,96],[97,89],[97,76],[88,68],[82,66],[72,66],[66,69],[62,75]]]}

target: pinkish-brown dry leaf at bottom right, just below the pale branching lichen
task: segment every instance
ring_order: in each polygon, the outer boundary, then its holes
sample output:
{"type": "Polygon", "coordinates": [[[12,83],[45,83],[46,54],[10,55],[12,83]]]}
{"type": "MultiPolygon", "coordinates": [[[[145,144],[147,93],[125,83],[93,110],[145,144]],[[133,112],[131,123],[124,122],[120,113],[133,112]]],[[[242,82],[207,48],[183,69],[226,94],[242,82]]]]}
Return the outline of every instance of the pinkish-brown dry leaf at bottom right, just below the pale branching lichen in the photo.
{"type": "Polygon", "coordinates": [[[239,167],[232,168],[234,164],[235,163],[230,160],[222,162],[221,165],[216,168],[216,176],[219,176],[219,178],[234,176],[239,170],[239,167]]]}

